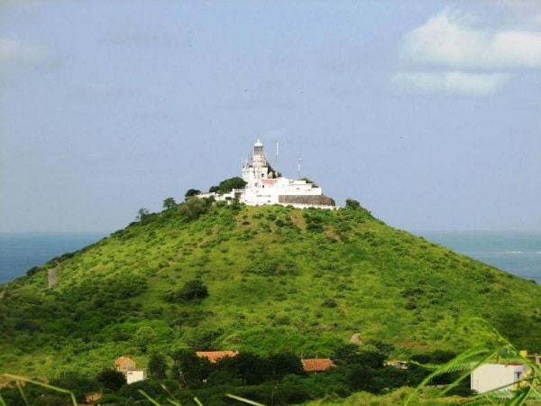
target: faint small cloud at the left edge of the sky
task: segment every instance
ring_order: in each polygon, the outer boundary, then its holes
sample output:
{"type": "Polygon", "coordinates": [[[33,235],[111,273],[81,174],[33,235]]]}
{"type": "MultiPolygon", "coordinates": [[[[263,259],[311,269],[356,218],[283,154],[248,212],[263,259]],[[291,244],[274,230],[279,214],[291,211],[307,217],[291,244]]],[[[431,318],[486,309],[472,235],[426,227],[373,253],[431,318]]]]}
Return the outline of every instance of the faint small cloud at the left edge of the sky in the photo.
{"type": "Polygon", "coordinates": [[[35,66],[50,64],[55,59],[52,52],[40,45],[0,38],[0,64],[35,66]]]}

